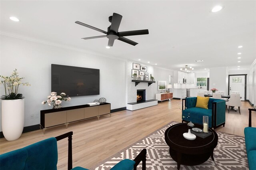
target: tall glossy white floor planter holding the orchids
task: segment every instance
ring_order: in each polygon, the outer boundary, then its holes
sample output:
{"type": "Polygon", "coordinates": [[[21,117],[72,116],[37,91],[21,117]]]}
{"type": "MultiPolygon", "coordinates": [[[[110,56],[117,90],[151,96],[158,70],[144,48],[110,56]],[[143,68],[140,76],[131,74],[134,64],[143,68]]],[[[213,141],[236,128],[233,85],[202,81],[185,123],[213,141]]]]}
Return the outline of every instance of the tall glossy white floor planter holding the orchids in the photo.
{"type": "Polygon", "coordinates": [[[6,140],[16,140],[24,127],[24,99],[2,100],[2,130],[6,140]]]}

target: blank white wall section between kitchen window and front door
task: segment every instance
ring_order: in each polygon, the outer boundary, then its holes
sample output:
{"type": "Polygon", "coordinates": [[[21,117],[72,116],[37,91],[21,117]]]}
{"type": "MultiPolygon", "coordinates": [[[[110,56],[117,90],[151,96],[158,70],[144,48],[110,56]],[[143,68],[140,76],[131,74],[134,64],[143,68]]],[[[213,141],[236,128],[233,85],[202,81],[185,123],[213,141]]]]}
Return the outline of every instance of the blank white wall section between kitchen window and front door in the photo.
{"type": "Polygon", "coordinates": [[[212,88],[228,94],[228,67],[210,68],[209,89],[212,88]]]}

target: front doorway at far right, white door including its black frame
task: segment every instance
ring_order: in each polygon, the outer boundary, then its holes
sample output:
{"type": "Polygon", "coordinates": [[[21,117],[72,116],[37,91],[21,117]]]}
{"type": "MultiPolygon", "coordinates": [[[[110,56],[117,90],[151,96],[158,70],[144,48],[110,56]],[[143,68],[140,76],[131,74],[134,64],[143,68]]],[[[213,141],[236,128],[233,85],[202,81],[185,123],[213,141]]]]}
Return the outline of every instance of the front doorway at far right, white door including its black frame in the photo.
{"type": "Polygon", "coordinates": [[[247,74],[228,75],[228,95],[232,91],[238,91],[242,101],[246,100],[246,78],[247,74]]]}

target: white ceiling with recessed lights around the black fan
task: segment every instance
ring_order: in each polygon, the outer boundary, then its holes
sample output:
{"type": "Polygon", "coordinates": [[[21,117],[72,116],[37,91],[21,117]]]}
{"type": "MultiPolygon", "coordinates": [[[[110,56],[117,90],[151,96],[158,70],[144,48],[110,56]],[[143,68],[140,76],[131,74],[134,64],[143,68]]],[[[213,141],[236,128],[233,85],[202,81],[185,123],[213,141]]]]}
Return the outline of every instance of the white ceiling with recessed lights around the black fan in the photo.
{"type": "Polygon", "coordinates": [[[202,71],[209,67],[248,69],[256,59],[256,1],[4,1],[1,33],[68,45],[110,57],[131,59],[166,69],[185,65],[202,71]],[[216,5],[224,8],[212,13],[216,5]],[[107,31],[108,17],[123,16],[119,31],[148,29],[148,35],[129,36],[138,45],[116,40],[106,49],[104,35],[75,24],[80,21],[107,31]],[[16,16],[20,22],[13,22],[16,16]],[[243,45],[238,48],[238,45],[243,45]],[[241,63],[238,63],[237,53],[241,63]],[[204,62],[196,63],[202,59],[204,62]]]}

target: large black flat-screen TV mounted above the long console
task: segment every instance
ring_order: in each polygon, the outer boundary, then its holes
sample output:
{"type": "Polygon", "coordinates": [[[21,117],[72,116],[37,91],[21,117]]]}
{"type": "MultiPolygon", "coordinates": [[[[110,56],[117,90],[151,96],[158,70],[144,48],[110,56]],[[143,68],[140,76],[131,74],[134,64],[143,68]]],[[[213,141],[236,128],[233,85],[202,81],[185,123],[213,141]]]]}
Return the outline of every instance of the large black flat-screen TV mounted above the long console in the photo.
{"type": "Polygon", "coordinates": [[[52,64],[52,91],[68,96],[100,94],[100,70],[52,64]]]}

